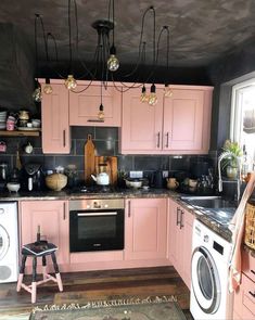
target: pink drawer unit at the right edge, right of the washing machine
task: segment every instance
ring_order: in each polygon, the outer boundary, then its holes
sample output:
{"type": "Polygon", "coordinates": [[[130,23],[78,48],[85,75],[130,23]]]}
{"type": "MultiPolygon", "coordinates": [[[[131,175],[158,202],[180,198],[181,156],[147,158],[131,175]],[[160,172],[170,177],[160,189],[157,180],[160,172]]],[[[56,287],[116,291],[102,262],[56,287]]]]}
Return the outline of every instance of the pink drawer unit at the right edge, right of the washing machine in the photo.
{"type": "Polygon", "coordinates": [[[242,252],[241,285],[234,292],[233,319],[255,320],[255,257],[242,252]]]}

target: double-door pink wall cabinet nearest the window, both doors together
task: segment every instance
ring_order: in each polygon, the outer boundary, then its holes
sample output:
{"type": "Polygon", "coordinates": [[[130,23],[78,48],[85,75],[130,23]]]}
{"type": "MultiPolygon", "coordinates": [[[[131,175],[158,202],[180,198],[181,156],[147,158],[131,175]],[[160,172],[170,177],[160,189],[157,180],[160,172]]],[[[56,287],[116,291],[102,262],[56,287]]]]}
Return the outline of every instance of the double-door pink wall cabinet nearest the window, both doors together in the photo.
{"type": "Polygon", "coordinates": [[[157,86],[155,106],[140,102],[141,89],[123,93],[123,154],[204,154],[209,149],[212,87],[157,86]]]}

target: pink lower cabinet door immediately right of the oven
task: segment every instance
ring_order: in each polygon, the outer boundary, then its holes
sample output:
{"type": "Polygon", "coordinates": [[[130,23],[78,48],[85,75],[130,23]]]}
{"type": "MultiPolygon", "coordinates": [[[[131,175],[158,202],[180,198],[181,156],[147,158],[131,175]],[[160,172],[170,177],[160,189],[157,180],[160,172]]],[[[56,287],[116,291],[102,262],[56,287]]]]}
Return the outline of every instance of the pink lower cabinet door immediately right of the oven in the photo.
{"type": "Polygon", "coordinates": [[[126,207],[125,259],[166,258],[166,200],[132,199],[126,207]]]}

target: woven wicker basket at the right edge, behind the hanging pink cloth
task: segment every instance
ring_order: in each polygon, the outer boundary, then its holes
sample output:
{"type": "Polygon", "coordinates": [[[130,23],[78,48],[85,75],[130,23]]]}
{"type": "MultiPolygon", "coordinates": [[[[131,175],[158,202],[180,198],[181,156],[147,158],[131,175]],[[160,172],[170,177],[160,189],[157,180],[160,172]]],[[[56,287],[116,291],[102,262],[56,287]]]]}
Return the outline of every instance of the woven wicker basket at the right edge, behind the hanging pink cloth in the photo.
{"type": "Polygon", "coordinates": [[[255,249],[255,203],[247,203],[245,207],[244,243],[255,249]]]}

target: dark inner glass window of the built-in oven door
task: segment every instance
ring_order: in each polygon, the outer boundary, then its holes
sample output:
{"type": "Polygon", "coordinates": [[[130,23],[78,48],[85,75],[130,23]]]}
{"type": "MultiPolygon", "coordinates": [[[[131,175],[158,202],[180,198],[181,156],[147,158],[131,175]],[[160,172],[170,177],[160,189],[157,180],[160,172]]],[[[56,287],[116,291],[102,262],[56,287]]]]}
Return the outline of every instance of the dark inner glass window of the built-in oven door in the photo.
{"type": "Polygon", "coordinates": [[[86,217],[78,222],[79,240],[112,239],[116,236],[116,217],[86,217]]]}

